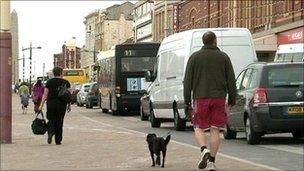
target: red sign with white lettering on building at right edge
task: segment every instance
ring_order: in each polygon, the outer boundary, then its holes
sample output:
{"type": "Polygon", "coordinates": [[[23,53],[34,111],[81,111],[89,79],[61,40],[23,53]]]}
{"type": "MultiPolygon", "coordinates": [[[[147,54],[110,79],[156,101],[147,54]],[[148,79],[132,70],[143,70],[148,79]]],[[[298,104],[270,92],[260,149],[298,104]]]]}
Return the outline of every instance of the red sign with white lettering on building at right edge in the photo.
{"type": "Polygon", "coordinates": [[[304,27],[299,27],[278,34],[278,45],[291,43],[304,43],[304,27]]]}

